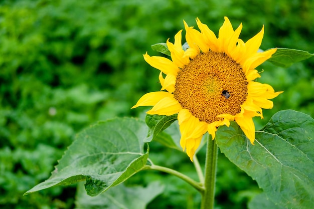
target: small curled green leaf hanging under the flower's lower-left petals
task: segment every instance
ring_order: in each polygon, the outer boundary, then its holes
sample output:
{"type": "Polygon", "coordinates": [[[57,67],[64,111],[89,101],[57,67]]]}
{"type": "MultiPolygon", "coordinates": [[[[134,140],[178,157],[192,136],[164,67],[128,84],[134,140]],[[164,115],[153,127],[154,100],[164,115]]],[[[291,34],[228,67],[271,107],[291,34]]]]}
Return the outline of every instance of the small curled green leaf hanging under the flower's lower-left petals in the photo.
{"type": "Polygon", "coordinates": [[[145,122],[149,127],[149,132],[144,142],[150,142],[155,137],[168,128],[173,122],[178,119],[178,114],[171,116],[166,115],[149,115],[146,114],[145,122]]]}

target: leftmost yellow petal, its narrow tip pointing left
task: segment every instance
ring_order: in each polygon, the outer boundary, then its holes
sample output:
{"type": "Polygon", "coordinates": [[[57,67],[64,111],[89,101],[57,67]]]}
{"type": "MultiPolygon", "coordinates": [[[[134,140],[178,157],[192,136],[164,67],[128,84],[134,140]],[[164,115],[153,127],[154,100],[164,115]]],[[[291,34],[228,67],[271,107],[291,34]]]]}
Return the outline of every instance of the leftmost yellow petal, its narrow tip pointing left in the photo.
{"type": "Polygon", "coordinates": [[[144,94],[137,101],[136,105],[134,105],[132,108],[136,108],[139,106],[153,106],[165,97],[173,98],[174,95],[169,93],[169,92],[165,92],[165,91],[149,92],[147,94],[144,94]]]}

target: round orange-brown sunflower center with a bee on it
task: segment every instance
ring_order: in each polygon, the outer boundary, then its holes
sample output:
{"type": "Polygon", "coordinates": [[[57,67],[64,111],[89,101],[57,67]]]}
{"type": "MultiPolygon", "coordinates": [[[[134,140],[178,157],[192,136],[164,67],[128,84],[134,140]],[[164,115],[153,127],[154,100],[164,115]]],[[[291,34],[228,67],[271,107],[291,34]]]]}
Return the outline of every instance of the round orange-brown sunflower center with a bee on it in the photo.
{"type": "Polygon", "coordinates": [[[247,96],[242,66],[225,53],[196,56],[177,76],[175,99],[200,121],[212,123],[219,114],[236,115],[247,96]]]}

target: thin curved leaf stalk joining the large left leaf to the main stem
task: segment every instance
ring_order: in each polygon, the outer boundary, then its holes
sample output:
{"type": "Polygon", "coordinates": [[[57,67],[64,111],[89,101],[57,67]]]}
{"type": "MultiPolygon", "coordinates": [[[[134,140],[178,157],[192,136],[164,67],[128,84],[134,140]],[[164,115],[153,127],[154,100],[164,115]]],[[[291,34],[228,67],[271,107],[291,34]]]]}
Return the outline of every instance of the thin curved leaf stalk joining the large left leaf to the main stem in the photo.
{"type": "Polygon", "coordinates": [[[159,165],[145,165],[145,167],[143,168],[144,170],[146,169],[150,169],[150,170],[159,170],[159,171],[163,171],[169,174],[173,174],[183,180],[185,180],[186,182],[188,182],[189,184],[191,184],[194,188],[196,188],[198,191],[200,191],[201,193],[204,192],[204,187],[202,186],[201,183],[196,182],[195,180],[193,180],[192,178],[190,178],[189,176],[178,172],[177,170],[173,170],[171,168],[168,167],[163,167],[163,166],[159,166],[159,165]]]}

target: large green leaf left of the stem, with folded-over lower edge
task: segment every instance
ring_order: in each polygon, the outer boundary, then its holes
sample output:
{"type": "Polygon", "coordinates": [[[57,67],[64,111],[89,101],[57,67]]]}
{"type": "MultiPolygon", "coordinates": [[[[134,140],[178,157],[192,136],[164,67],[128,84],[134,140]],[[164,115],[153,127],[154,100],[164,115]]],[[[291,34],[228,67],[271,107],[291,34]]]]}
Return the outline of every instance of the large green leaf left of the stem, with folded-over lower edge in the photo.
{"type": "Polygon", "coordinates": [[[86,180],[88,195],[95,196],[118,185],[145,166],[147,134],[143,121],[117,118],[87,128],[65,152],[52,175],[28,190],[29,194],[56,185],[86,180]]]}

